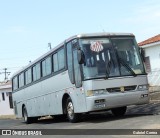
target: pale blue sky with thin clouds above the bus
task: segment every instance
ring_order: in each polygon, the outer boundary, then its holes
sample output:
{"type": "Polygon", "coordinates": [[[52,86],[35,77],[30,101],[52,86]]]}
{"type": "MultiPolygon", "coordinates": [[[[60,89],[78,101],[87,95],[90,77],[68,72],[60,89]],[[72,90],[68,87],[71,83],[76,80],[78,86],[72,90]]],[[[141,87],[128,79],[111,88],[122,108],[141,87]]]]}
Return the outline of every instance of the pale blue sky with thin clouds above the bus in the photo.
{"type": "Polygon", "coordinates": [[[70,36],[160,34],[160,0],[0,0],[0,82],[70,36]]]}

